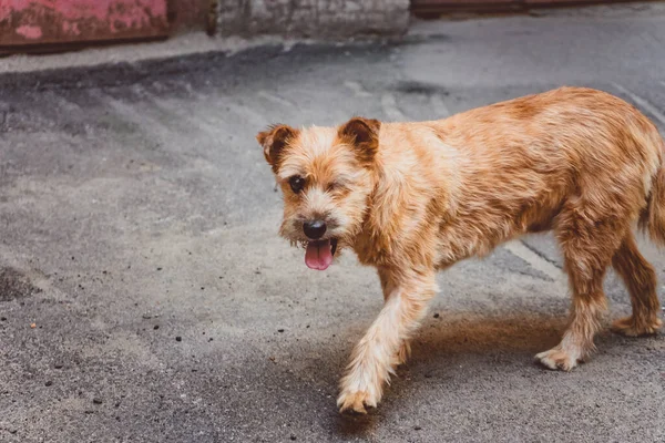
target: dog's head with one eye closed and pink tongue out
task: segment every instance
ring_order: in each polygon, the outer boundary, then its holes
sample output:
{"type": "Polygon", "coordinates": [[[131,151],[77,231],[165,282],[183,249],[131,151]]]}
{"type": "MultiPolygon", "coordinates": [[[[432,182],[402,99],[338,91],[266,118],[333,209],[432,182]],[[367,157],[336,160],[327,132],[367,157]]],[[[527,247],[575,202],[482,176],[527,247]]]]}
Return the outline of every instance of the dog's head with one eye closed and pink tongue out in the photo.
{"type": "Polygon", "coordinates": [[[256,136],[284,194],[279,234],[306,248],[311,269],[330,266],[362,227],[380,125],[355,117],[339,127],[273,125],[256,136]]]}

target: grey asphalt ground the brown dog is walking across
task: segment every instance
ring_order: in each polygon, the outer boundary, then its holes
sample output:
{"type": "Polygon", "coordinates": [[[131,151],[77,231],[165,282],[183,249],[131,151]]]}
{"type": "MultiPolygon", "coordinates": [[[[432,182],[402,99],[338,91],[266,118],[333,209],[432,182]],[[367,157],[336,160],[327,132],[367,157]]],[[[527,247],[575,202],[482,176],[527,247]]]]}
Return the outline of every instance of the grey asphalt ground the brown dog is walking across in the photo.
{"type": "MultiPolygon", "coordinates": [[[[664,43],[657,8],[627,9],[0,76],[0,441],[665,441],[663,334],[603,332],[571,373],[533,363],[569,308],[546,236],[441,274],[380,408],[338,415],[379,285],[351,256],[309,271],[277,237],[254,141],[273,122],[429,119],[561,84],[665,130],[664,43]]],[[[627,313],[613,275],[606,289],[627,313]]]]}

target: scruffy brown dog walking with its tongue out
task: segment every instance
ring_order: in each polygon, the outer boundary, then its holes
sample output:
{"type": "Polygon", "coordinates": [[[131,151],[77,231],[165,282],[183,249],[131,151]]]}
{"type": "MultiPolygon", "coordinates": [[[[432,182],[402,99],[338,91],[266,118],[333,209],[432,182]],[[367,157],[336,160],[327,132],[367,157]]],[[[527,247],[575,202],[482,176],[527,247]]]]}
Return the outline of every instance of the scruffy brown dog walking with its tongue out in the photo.
{"type": "Polygon", "coordinates": [[[665,245],[665,145],[615,96],[564,87],[442,121],[275,125],[257,140],[284,192],[280,234],[306,247],[307,266],[326,269],[351,248],[379,274],[386,303],[354,350],[341,411],[377,405],[437,270],[526,233],[554,230],[572,290],[570,324],[536,356],[542,364],[567,371],[593,350],[610,265],[633,306],[614,329],[642,336],[662,324],[632,225],[665,245]]]}

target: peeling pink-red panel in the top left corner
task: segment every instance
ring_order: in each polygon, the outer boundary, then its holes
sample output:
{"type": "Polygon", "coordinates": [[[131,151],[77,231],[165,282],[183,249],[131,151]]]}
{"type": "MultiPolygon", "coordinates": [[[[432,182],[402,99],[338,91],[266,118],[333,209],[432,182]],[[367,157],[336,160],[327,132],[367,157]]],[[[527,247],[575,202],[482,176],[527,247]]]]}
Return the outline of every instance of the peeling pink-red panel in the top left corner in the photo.
{"type": "Polygon", "coordinates": [[[0,0],[0,47],[157,38],[166,14],[166,0],[0,0]]]}

